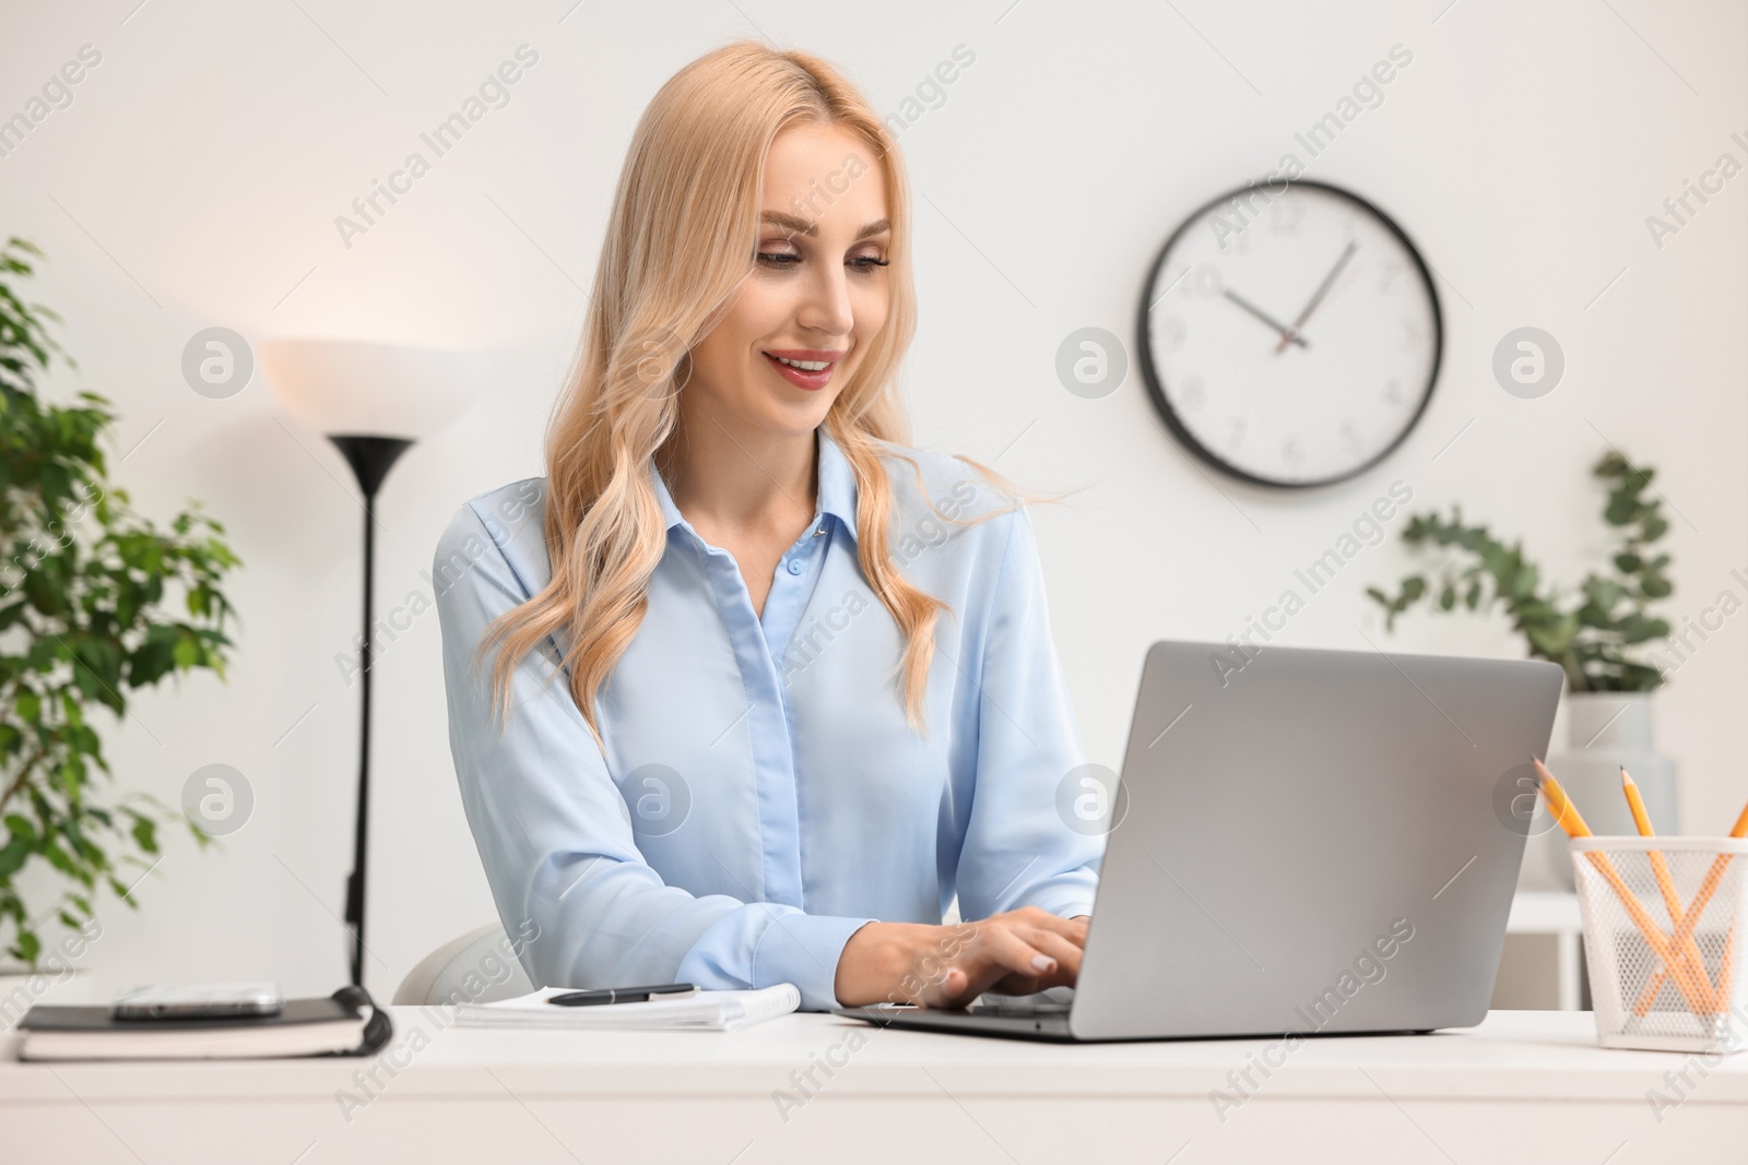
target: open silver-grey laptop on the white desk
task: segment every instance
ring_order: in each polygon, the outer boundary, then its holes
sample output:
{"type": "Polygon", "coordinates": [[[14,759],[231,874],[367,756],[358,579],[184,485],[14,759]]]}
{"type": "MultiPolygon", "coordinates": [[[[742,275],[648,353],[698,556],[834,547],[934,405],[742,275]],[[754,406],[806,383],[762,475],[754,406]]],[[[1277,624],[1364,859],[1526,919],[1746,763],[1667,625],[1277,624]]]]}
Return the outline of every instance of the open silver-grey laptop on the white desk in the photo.
{"type": "Polygon", "coordinates": [[[1059,1041],[1479,1024],[1563,679],[1543,660],[1155,643],[1072,999],[837,1013],[1059,1041]]]}

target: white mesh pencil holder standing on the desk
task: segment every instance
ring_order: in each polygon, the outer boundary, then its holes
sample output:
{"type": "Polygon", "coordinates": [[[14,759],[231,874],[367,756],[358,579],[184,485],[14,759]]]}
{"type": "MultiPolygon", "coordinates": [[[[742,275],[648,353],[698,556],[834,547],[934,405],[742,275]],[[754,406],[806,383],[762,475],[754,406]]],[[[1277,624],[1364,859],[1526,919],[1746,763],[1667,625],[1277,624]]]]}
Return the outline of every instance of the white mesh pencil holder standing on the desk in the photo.
{"type": "Polygon", "coordinates": [[[1748,1048],[1748,840],[1578,837],[1570,847],[1596,1041],[1748,1048]]]}

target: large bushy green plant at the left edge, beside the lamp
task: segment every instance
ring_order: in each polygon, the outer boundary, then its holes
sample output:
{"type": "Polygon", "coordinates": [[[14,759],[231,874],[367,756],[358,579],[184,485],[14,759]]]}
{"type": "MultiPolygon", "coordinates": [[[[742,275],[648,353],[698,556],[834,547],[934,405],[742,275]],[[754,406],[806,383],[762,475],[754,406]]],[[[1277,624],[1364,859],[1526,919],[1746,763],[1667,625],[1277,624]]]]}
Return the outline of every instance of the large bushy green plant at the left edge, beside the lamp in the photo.
{"type": "Polygon", "coordinates": [[[0,950],[35,968],[51,917],[80,926],[103,887],[136,905],[122,875],[150,868],[159,823],[180,819],[143,793],[98,803],[96,774],[114,774],[91,713],[121,720],[129,692],[177,672],[224,676],[234,611],[218,585],[239,561],[198,505],[159,531],[108,484],[108,400],[38,395],[54,356],[73,362],[45,328],[59,316],[17,293],[31,257],[24,239],[0,248],[0,950]],[[33,912],[19,877],[40,863],[66,886],[33,912]]]}

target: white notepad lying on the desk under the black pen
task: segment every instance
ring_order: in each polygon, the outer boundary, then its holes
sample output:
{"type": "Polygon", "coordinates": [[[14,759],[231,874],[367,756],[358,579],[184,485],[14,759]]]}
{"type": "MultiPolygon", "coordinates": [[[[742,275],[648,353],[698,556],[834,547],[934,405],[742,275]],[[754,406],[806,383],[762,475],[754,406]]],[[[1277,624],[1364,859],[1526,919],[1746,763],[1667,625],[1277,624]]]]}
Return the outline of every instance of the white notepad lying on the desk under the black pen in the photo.
{"type": "Polygon", "coordinates": [[[685,999],[649,999],[645,1003],[608,1003],[589,1008],[561,1008],[547,1003],[568,987],[500,999],[498,1003],[461,1004],[456,1024],[467,1027],[593,1027],[593,1029],[689,1029],[729,1032],[788,1015],[801,1006],[801,989],[776,983],[762,990],[701,990],[685,999]]]}

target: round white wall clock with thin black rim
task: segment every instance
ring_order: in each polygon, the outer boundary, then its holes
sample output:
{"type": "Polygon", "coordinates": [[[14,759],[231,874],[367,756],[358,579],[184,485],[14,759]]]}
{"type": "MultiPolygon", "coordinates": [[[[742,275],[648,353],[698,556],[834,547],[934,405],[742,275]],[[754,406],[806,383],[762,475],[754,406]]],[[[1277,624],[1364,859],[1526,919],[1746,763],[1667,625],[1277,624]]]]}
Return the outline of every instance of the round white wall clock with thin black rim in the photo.
{"type": "Polygon", "coordinates": [[[1321,486],[1376,465],[1414,428],[1442,323],[1426,265],[1383,211],[1335,187],[1276,182],[1178,227],[1140,339],[1154,405],[1194,452],[1264,486],[1321,486]]]}

